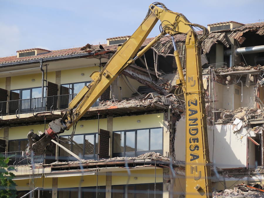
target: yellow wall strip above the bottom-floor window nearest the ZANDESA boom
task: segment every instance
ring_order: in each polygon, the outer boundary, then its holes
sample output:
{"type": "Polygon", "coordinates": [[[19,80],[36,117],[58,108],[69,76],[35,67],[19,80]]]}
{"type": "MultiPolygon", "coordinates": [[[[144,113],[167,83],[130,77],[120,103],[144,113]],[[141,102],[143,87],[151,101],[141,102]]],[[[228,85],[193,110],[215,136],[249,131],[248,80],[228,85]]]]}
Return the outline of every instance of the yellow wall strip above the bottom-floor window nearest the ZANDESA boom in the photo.
{"type": "MultiPolygon", "coordinates": [[[[131,170],[128,184],[143,184],[155,182],[155,170],[131,170]],[[137,177],[137,178],[134,178],[137,177]]],[[[112,172],[112,185],[124,185],[128,180],[127,171],[112,172]]],[[[163,169],[156,169],[156,182],[163,182],[163,169]]]]}

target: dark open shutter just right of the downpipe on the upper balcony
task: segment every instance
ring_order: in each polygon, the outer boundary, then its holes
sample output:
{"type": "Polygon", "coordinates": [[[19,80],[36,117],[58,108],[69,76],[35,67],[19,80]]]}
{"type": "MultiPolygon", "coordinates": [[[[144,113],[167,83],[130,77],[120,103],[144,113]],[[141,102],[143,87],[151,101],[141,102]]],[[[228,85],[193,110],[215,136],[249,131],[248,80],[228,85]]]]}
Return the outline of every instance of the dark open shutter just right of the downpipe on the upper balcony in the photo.
{"type": "Polygon", "coordinates": [[[47,87],[47,110],[53,110],[57,109],[57,96],[58,95],[58,85],[52,82],[48,82],[48,87],[47,87]]]}

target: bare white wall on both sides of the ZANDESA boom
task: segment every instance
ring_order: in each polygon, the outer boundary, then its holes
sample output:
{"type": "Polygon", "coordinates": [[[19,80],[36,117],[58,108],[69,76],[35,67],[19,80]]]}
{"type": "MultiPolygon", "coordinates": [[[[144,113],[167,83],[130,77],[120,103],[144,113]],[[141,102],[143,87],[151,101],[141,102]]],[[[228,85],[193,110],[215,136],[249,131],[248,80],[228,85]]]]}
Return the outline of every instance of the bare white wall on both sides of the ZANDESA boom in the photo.
{"type": "MultiPolygon", "coordinates": [[[[182,117],[176,124],[177,126],[174,145],[176,160],[185,161],[185,118],[182,117]]],[[[247,133],[247,129],[241,128],[240,131],[233,133],[232,124],[215,125],[214,127],[207,126],[207,131],[210,161],[214,162],[216,167],[246,167],[248,141],[247,136],[255,136],[253,132],[250,132],[246,136],[243,136],[247,133]],[[241,136],[243,136],[242,139],[241,136]]],[[[251,153],[253,155],[253,149],[251,150],[251,153]]]]}

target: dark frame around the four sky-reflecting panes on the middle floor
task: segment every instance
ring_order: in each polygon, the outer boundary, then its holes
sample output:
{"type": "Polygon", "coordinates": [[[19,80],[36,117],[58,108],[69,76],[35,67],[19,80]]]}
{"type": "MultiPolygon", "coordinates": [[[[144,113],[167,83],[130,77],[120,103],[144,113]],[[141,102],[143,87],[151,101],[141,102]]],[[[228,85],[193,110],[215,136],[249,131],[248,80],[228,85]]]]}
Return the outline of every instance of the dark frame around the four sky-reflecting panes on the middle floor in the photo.
{"type": "Polygon", "coordinates": [[[160,152],[161,155],[163,155],[163,140],[164,140],[164,136],[163,136],[163,127],[153,127],[153,128],[138,128],[138,129],[129,129],[129,130],[118,130],[118,131],[113,131],[112,132],[112,142],[114,142],[114,133],[115,132],[122,132],[124,131],[124,152],[121,152],[121,153],[114,153],[114,144],[112,143],[112,156],[113,157],[126,157],[126,153],[132,153],[134,152],[134,156],[130,156],[128,155],[127,157],[136,157],[138,155],[141,155],[141,154],[144,154],[144,153],[147,153],[147,152],[160,152]],[[162,129],[162,149],[159,149],[159,150],[150,150],[150,129],[155,129],[155,128],[160,128],[162,129]],[[138,131],[139,130],[146,130],[148,129],[148,133],[149,133],[149,136],[148,136],[148,149],[149,150],[143,150],[143,151],[138,151],[137,150],[137,136],[138,136],[138,131]],[[126,152],[126,132],[130,132],[130,131],[135,131],[135,151],[129,151],[129,152],[126,152]]]}

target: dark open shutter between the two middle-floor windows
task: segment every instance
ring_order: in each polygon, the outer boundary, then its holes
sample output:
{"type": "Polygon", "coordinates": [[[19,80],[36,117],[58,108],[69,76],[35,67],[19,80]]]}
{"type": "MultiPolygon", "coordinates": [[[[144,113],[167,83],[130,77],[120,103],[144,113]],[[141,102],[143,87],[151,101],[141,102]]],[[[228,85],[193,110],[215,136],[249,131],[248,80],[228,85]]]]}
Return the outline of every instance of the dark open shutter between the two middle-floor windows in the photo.
{"type": "Polygon", "coordinates": [[[109,158],[109,138],[110,132],[100,129],[99,133],[99,159],[101,158],[109,158]]]}

